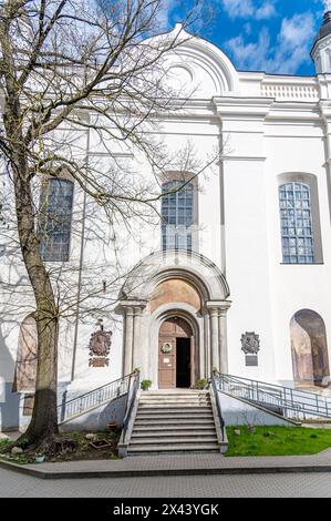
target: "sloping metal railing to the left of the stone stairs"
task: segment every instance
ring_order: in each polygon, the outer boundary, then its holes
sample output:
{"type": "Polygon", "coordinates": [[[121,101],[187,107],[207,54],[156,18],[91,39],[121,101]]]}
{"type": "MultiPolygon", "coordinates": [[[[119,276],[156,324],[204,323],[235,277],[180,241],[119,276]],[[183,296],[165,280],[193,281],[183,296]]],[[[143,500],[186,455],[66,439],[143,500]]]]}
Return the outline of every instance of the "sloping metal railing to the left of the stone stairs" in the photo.
{"type": "Polygon", "coordinates": [[[71,400],[66,400],[66,391],[64,391],[62,395],[62,402],[58,406],[59,423],[84,415],[87,410],[95,409],[114,398],[126,395],[128,392],[131,377],[132,374],[126,375],[76,396],[71,400]]]}

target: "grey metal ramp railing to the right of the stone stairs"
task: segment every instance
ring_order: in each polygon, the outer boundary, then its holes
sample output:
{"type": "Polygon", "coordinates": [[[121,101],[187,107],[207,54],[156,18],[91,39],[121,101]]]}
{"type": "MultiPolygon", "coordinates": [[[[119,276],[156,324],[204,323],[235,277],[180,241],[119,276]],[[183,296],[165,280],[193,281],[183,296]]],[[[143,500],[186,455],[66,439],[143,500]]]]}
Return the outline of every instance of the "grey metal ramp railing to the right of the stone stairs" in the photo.
{"type": "Polygon", "coordinates": [[[331,418],[331,400],[313,392],[226,374],[217,374],[216,382],[220,390],[250,402],[278,407],[282,416],[288,418],[298,418],[300,415],[304,419],[309,415],[331,418]]]}

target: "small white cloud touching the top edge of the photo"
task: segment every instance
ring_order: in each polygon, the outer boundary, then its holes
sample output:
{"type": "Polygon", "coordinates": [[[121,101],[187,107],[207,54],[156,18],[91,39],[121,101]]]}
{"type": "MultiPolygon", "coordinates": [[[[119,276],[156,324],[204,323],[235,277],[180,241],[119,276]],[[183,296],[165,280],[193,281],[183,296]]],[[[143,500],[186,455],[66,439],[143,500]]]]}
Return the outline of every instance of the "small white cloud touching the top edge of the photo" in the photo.
{"type": "Polygon", "coordinates": [[[260,1],[259,7],[254,0],[223,0],[223,7],[230,18],[255,18],[265,20],[276,16],[272,1],[260,1]]]}

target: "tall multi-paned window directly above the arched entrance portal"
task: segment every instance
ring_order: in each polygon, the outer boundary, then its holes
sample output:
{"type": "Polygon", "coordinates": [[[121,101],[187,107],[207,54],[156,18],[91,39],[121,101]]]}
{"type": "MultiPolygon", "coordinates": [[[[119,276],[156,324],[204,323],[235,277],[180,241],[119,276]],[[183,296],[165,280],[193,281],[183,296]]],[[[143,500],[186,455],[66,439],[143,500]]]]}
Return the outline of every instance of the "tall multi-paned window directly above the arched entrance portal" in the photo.
{"type": "Polygon", "coordinates": [[[162,191],[162,247],[192,251],[194,185],[169,181],[162,191]]]}

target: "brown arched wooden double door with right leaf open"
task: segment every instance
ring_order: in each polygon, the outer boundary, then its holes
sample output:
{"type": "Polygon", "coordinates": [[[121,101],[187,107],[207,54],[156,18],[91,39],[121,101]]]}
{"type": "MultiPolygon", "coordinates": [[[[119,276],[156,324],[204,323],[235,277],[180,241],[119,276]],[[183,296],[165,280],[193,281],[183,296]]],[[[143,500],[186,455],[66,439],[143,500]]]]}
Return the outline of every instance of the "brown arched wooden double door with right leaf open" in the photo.
{"type": "Polygon", "coordinates": [[[194,336],[179,317],[166,319],[158,335],[158,388],[189,388],[194,385],[194,336]]]}

